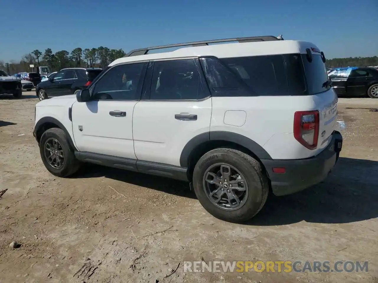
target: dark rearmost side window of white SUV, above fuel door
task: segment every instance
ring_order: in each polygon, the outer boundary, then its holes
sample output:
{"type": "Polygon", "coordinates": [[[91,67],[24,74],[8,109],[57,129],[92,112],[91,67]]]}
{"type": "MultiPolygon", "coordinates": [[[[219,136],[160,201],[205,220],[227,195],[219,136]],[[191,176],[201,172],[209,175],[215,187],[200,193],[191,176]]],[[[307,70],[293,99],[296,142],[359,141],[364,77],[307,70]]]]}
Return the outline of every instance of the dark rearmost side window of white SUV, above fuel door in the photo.
{"type": "Polygon", "coordinates": [[[201,64],[216,96],[307,94],[300,54],[202,58],[201,64]]]}

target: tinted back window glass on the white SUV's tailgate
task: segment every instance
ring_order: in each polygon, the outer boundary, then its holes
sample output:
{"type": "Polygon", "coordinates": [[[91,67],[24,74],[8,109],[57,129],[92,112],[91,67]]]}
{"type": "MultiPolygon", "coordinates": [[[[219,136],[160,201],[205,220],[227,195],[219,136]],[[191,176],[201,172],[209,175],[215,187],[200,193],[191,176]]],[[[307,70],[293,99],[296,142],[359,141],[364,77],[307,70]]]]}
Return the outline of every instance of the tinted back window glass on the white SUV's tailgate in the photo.
{"type": "Polygon", "coordinates": [[[301,54],[301,56],[309,94],[327,91],[328,89],[325,88],[324,83],[328,81],[328,75],[321,55],[312,54],[312,62],[308,62],[306,54],[301,54]]]}

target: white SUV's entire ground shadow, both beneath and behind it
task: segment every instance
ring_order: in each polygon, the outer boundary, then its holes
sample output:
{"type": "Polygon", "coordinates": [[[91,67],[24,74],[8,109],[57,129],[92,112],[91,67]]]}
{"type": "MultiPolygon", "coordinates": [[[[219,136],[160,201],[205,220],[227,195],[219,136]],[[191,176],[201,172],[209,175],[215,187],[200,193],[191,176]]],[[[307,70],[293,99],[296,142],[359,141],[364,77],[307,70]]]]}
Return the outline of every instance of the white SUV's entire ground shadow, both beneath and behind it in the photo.
{"type": "MultiPolygon", "coordinates": [[[[333,172],[319,185],[296,194],[273,194],[250,221],[254,226],[350,223],[378,217],[378,161],[340,157],[333,172]]],[[[311,174],[311,172],[309,172],[311,174]]],[[[86,165],[74,178],[107,177],[157,191],[195,199],[189,183],[169,178],[86,165]]]]}

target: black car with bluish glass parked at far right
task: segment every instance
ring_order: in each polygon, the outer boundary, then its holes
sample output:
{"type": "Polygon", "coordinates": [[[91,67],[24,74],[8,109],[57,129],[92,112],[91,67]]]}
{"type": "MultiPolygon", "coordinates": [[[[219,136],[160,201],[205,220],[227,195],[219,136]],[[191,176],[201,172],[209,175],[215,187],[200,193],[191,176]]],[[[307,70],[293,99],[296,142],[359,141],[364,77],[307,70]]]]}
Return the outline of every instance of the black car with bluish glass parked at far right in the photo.
{"type": "Polygon", "coordinates": [[[328,74],[338,96],[378,98],[378,70],[369,67],[337,68],[328,74]]]}

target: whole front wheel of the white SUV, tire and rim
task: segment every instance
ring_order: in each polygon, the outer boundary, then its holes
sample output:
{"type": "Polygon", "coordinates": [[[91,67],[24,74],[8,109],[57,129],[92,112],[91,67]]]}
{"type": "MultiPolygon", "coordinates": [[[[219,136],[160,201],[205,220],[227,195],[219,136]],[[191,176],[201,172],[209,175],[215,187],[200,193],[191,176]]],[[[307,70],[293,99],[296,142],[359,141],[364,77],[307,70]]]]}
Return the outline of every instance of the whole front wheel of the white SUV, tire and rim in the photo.
{"type": "Polygon", "coordinates": [[[39,152],[46,169],[55,176],[68,177],[79,169],[80,163],[62,129],[45,131],[39,142],[39,152]]]}

